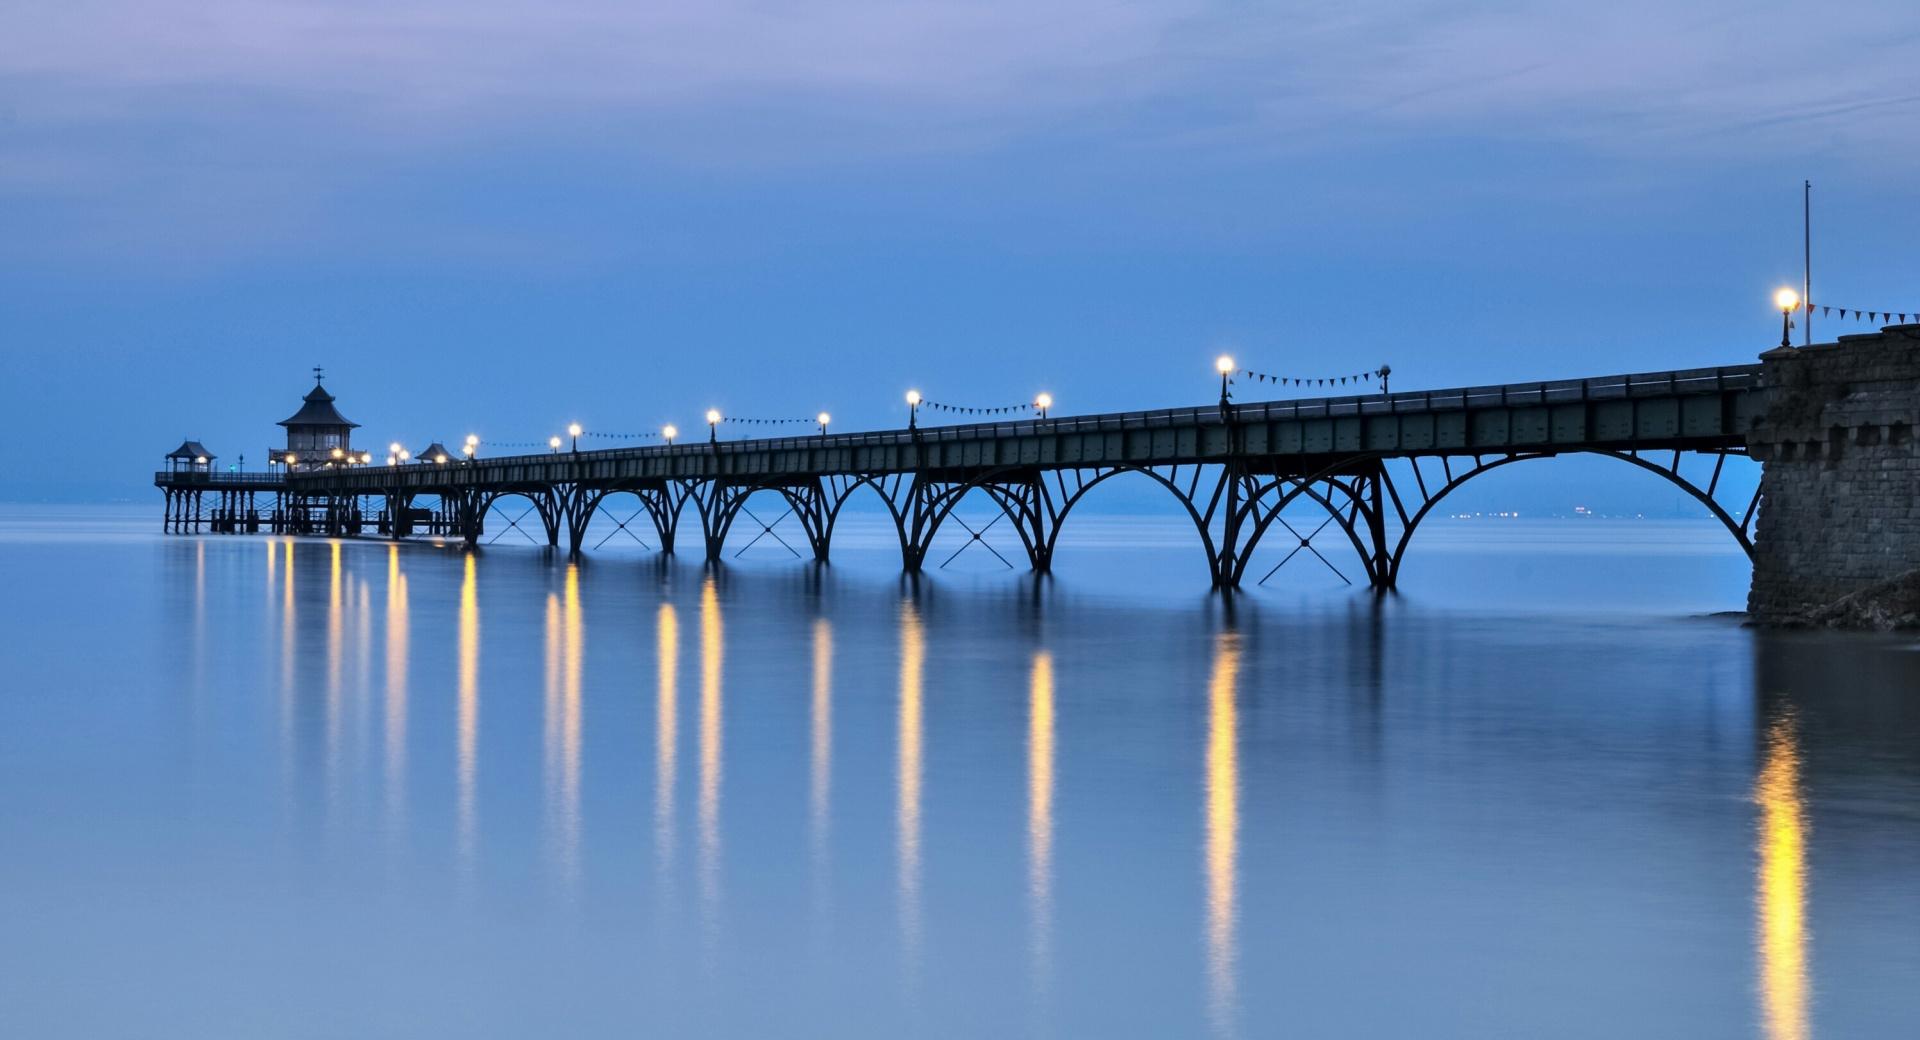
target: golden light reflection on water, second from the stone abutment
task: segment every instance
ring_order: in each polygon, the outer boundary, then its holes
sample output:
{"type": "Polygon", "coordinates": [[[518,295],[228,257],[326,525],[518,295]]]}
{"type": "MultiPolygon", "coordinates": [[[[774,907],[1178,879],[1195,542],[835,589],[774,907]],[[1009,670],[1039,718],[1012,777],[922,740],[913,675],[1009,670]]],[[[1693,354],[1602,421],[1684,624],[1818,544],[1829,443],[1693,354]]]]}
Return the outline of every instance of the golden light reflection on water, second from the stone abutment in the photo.
{"type": "Polygon", "coordinates": [[[1240,842],[1240,760],[1235,679],[1240,637],[1221,633],[1208,683],[1206,741],[1206,954],[1208,1013],[1215,1032],[1233,1032],[1236,1002],[1235,886],[1240,842]]]}

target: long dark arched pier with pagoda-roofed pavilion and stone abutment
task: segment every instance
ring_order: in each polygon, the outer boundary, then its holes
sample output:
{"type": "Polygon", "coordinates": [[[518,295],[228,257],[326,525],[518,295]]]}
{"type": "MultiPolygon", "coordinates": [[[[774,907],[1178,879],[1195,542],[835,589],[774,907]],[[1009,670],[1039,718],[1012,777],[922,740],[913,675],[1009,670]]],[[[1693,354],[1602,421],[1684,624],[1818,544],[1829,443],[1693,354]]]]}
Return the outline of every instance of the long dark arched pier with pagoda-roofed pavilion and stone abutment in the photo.
{"type": "Polygon", "coordinates": [[[841,510],[866,493],[893,520],[908,572],[925,566],[954,507],[979,493],[1010,522],[1027,564],[1046,572],[1075,505],[1131,476],[1181,505],[1215,587],[1242,585],[1254,551],[1284,530],[1296,551],[1319,555],[1317,537],[1344,543],[1367,585],[1392,589],[1421,524],[1452,491],[1513,462],[1599,455],[1695,499],[1757,560],[1757,587],[1772,589],[1766,610],[1784,612],[1920,566],[1920,514],[1910,505],[1920,472],[1910,447],[1920,420],[1916,351],[1920,326],[1889,326],[1720,368],[1300,401],[1223,393],[1200,407],[768,439],[720,439],[710,430],[693,443],[484,459],[434,445],[394,464],[355,455],[351,424],[315,388],[324,401],[309,393],[303,411],[282,422],[290,447],[276,449],[278,472],[219,472],[202,455],[173,459],[154,482],[167,495],[169,532],[434,535],[474,547],[493,507],[522,499],[555,549],[582,553],[588,524],[622,505],[649,518],[662,553],[682,545],[691,516],[708,560],[722,558],[749,499],[776,495],[789,510],[781,518],[795,518],[822,562],[841,510]],[[1820,413],[1822,401],[1862,391],[1874,407],[1820,413]],[[1828,462],[1862,455],[1874,472],[1901,474],[1905,484],[1874,491],[1905,495],[1895,503],[1901,518],[1893,524],[1895,507],[1874,503],[1885,514],[1872,524],[1885,547],[1864,553],[1874,558],[1855,560],[1860,566],[1849,574],[1809,578],[1807,595],[1795,595],[1793,568],[1837,564],[1768,547],[1761,518],[1782,501],[1795,503],[1782,514],[1807,512],[1799,501],[1820,478],[1768,470],[1759,493],[1728,501],[1728,461],[1791,461],[1803,470],[1812,461],[1826,472],[1828,462]],[[1325,518],[1311,533],[1283,520],[1304,503],[1325,518]]]}

